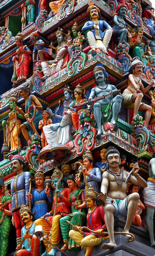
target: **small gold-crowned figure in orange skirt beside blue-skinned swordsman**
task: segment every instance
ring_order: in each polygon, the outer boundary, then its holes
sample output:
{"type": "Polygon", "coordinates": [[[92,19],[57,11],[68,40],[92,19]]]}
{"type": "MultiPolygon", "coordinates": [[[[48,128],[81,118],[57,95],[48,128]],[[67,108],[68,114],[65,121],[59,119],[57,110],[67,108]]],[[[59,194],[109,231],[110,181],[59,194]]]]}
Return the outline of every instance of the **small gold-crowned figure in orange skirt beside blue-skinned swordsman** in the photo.
{"type": "MultiPolygon", "coordinates": [[[[81,104],[83,102],[85,102],[87,99],[84,95],[85,93],[83,93],[80,84],[78,84],[74,90],[74,95],[75,95],[75,105],[76,104],[81,104]]],[[[79,106],[76,107],[76,112],[72,111],[73,113],[71,114],[71,119],[73,122],[73,125],[75,127],[76,133],[74,134],[74,137],[78,134],[79,130],[80,130],[80,125],[79,125],[79,116],[82,112],[83,109],[89,109],[87,105],[84,106],[79,106]]]]}

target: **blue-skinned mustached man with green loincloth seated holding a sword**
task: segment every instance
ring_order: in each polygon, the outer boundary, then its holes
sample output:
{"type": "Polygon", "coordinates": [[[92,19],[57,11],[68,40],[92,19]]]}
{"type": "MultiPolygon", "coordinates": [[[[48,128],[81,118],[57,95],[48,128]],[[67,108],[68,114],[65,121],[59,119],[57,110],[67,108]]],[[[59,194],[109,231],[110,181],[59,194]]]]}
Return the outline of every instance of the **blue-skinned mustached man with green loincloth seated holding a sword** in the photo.
{"type": "Polygon", "coordinates": [[[96,138],[100,138],[102,134],[102,124],[110,122],[114,125],[114,129],[117,129],[116,119],[121,109],[121,102],[124,99],[121,94],[117,95],[118,90],[114,85],[108,84],[108,73],[102,64],[95,66],[93,74],[96,87],[91,90],[88,105],[92,105],[91,100],[94,99],[95,96],[100,97],[112,91],[112,96],[99,100],[93,105],[94,119],[98,127],[96,138]]]}

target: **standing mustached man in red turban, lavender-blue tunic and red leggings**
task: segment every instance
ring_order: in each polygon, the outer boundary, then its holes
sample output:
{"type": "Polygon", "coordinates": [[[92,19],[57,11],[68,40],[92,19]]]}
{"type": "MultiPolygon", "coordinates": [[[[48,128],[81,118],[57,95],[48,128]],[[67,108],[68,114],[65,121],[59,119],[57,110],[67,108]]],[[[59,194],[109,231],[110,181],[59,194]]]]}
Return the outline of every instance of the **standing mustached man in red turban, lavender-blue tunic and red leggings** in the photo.
{"type": "Polygon", "coordinates": [[[12,222],[16,228],[18,245],[21,242],[21,228],[23,227],[19,210],[22,204],[29,205],[26,195],[29,192],[29,178],[31,178],[31,173],[28,172],[22,156],[9,155],[9,160],[11,160],[11,167],[15,172],[15,176],[11,181],[11,211],[13,214],[12,222]]]}

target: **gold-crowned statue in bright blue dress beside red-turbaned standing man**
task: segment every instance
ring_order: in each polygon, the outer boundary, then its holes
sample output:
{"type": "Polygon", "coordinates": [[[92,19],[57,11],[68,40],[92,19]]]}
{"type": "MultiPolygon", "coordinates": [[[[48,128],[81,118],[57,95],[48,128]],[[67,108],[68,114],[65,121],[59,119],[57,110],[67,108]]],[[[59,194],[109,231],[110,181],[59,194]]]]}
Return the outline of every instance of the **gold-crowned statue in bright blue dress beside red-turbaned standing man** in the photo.
{"type": "Polygon", "coordinates": [[[50,188],[44,188],[45,177],[41,172],[34,175],[34,182],[37,188],[27,194],[27,198],[31,199],[32,212],[35,212],[35,219],[39,219],[48,211],[48,201],[52,205],[53,194],[50,188]]]}

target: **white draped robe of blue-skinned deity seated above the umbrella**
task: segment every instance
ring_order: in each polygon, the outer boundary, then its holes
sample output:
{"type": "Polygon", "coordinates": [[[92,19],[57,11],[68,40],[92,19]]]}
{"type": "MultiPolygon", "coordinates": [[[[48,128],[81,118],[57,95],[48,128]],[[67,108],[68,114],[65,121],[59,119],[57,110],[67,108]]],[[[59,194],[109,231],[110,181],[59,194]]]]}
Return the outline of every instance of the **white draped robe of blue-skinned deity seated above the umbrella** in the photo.
{"type": "MultiPolygon", "coordinates": [[[[47,140],[47,143],[50,144],[52,142],[57,142],[61,144],[66,144],[69,141],[73,140],[71,136],[71,113],[72,111],[66,111],[66,115],[63,115],[63,118],[59,124],[60,128],[56,131],[51,130],[51,125],[43,126],[43,131],[47,140]]],[[[53,124],[52,124],[53,125],[53,124]]]]}

